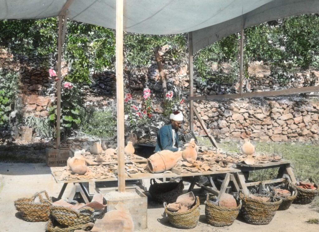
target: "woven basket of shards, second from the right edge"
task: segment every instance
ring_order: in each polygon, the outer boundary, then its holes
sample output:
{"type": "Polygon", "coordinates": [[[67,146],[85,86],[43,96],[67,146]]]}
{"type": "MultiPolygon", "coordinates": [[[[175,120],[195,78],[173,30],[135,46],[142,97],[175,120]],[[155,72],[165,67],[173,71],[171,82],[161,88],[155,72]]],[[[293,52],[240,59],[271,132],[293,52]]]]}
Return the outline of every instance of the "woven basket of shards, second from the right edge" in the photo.
{"type": "Polygon", "coordinates": [[[273,188],[276,195],[282,199],[278,210],[286,210],[293,204],[293,200],[297,197],[298,190],[292,182],[284,180],[282,184],[273,188]]]}

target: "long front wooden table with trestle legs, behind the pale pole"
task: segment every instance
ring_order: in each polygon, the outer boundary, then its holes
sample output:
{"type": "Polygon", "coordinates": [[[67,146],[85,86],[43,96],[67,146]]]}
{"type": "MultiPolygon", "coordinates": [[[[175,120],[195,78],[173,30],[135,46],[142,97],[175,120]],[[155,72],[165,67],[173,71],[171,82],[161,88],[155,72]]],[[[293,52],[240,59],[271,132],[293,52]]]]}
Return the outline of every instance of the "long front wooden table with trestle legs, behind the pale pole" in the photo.
{"type": "MultiPolygon", "coordinates": [[[[84,180],[68,180],[68,181],[59,181],[59,176],[55,176],[53,174],[53,171],[55,170],[55,168],[51,168],[51,173],[56,181],[56,183],[63,183],[63,187],[59,193],[58,199],[61,199],[64,190],[66,189],[66,186],[69,183],[73,183],[74,187],[70,193],[69,196],[69,200],[72,200],[75,196],[75,194],[78,192],[83,199],[85,200],[85,202],[89,202],[89,195],[94,194],[94,192],[92,190],[95,189],[95,182],[108,182],[108,181],[117,181],[117,177],[110,177],[110,178],[106,178],[106,179],[84,179],[84,180]],[[89,191],[87,191],[85,189],[85,187],[83,186],[83,183],[89,183],[89,191]],[[91,192],[92,191],[92,192],[91,192]]],[[[158,179],[158,178],[172,178],[172,177],[185,177],[185,176],[193,176],[193,180],[189,186],[188,191],[192,191],[192,189],[195,186],[195,183],[198,180],[199,176],[206,176],[208,178],[208,180],[210,181],[212,187],[207,187],[207,186],[200,186],[204,189],[206,189],[207,191],[215,194],[215,195],[220,195],[224,192],[227,191],[229,182],[233,182],[234,187],[237,191],[239,191],[239,185],[237,184],[235,178],[234,178],[234,174],[237,172],[240,172],[240,169],[236,169],[236,168],[230,168],[230,170],[227,171],[206,171],[206,172],[189,172],[189,173],[181,173],[181,174],[175,174],[175,173],[137,173],[137,174],[128,174],[128,177],[125,178],[125,180],[144,180],[144,179],[158,179]],[[217,175],[217,174],[225,174],[225,179],[222,183],[221,189],[218,190],[212,180],[212,175],[217,175]]]]}

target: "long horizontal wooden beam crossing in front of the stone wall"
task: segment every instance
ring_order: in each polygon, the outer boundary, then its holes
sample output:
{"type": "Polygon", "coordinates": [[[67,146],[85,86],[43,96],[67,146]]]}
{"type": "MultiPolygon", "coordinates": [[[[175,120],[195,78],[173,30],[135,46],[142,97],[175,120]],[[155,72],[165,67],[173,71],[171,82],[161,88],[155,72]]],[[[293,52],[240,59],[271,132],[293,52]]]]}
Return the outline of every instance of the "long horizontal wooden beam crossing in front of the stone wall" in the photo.
{"type": "Polygon", "coordinates": [[[215,99],[232,99],[232,98],[249,98],[249,97],[274,97],[279,95],[292,95],[299,93],[309,93],[309,92],[319,92],[319,86],[309,86],[301,88],[291,88],[283,90],[274,90],[274,91],[263,91],[263,92],[251,92],[243,94],[221,94],[221,95],[205,95],[197,97],[189,97],[188,100],[215,100],[215,99]]]}

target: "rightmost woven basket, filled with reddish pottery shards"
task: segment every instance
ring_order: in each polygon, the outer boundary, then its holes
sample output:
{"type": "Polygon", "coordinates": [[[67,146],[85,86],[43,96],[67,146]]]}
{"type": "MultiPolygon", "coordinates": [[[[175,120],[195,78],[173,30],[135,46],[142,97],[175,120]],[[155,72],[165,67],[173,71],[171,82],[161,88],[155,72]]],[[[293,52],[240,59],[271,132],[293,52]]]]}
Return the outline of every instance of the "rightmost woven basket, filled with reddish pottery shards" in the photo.
{"type": "Polygon", "coordinates": [[[293,201],[294,204],[309,204],[319,194],[318,185],[316,185],[311,178],[303,182],[297,182],[296,187],[298,189],[298,194],[293,201]]]}

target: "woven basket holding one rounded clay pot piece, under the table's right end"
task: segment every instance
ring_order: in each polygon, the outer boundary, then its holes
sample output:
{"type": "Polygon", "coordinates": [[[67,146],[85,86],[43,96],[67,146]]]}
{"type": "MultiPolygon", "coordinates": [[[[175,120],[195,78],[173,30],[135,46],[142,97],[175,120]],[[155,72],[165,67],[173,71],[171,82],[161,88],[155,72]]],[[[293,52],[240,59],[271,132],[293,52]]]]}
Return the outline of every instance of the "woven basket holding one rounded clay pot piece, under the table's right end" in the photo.
{"type": "Polygon", "coordinates": [[[237,203],[230,194],[223,194],[219,200],[208,193],[205,201],[205,216],[209,224],[216,227],[230,226],[237,218],[241,201],[237,203]]]}

